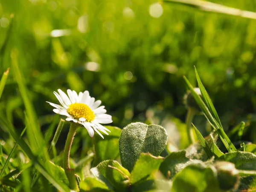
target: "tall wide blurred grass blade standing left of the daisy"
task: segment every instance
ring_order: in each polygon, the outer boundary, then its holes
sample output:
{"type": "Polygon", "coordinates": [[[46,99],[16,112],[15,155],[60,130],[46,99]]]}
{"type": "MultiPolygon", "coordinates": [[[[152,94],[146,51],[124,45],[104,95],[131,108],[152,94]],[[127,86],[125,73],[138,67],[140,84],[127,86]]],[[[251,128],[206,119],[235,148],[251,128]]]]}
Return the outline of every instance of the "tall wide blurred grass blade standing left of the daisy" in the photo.
{"type": "Polygon", "coordinates": [[[13,49],[11,52],[12,67],[15,72],[15,78],[20,90],[21,97],[23,99],[26,113],[29,121],[27,121],[27,136],[31,149],[34,154],[41,152],[42,146],[44,146],[44,140],[42,133],[39,128],[38,119],[36,117],[35,109],[32,105],[31,99],[29,99],[28,90],[25,83],[23,82],[22,73],[19,69],[18,59],[17,59],[17,49],[13,49]]]}

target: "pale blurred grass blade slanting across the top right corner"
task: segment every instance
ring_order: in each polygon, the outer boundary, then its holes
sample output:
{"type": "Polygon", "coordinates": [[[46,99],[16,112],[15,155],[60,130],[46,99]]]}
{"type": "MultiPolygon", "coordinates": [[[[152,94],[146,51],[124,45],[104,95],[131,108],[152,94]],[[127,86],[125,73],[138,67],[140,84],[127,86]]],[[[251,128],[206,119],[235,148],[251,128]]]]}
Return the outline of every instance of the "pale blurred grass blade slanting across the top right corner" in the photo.
{"type": "Polygon", "coordinates": [[[222,13],[226,15],[235,15],[244,18],[256,19],[255,12],[244,11],[217,3],[212,3],[204,0],[164,0],[169,3],[180,3],[186,6],[192,6],[205,12],[222,13]]]}

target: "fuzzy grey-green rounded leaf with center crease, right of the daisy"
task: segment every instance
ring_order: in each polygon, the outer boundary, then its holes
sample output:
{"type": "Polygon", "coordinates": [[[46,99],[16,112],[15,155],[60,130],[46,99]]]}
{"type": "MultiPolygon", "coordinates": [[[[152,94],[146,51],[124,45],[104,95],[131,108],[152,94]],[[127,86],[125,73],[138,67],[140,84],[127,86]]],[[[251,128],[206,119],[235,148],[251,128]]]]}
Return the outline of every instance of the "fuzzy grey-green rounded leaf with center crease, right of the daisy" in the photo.
{"type": "Polygon", "coordinates": [[[131,172],[141,153],[159,156],[166,144],[166,130],[160,125],[131,123],[122,129],[119,140],[122,165],[131,172]]]}

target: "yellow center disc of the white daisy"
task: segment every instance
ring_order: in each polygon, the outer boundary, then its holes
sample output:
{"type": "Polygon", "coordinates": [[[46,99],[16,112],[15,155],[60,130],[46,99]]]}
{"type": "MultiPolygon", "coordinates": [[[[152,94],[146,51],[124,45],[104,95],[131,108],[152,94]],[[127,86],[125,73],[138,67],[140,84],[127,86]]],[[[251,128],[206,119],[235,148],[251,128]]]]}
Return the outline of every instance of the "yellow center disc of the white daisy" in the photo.
{"type": "Polygon", "coordinates": [[[95,118],[93,111],[84,103],[70,104],[68,106],[67,113],[76,119],[84,117],[87,122],[91,122],[95,118]]]}

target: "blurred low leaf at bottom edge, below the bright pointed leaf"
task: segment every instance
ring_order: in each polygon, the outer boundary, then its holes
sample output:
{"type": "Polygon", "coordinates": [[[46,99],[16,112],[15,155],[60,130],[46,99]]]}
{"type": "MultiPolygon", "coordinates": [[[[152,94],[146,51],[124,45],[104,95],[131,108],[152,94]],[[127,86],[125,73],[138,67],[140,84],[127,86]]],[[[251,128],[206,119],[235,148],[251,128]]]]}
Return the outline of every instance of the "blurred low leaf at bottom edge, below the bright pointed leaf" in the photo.
{"type": "Polygon", "coordinates": [[[165,192],[172,188],[171,181],[167,180],[145,180],[142,183],[132,186],[133,192],[165,192]]]}

